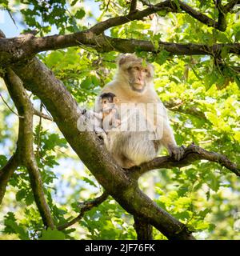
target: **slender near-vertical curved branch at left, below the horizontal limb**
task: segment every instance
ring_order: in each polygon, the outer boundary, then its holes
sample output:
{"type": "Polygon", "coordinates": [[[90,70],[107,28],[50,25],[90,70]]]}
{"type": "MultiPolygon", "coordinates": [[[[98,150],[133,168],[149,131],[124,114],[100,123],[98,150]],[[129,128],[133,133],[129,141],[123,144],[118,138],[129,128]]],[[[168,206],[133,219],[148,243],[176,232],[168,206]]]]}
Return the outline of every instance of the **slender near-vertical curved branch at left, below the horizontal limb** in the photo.
{"type": "Polygon", "coordinates": [[[33,114],[34,109],[22,81],[10,68],[7,69],[4,77],[6,87],[10,97],[18,109],[18,114],[24,118],[19,118],[17,154],[22,165],[26,166],[30,175],[30,185],[33,190],[34,199],[41,214],[45,226],[54,228],[54,221],[50,214],[49,206],[43,192],[42,178],[38,170],[38,165],[34,157],[33,148],[33,114]]]}

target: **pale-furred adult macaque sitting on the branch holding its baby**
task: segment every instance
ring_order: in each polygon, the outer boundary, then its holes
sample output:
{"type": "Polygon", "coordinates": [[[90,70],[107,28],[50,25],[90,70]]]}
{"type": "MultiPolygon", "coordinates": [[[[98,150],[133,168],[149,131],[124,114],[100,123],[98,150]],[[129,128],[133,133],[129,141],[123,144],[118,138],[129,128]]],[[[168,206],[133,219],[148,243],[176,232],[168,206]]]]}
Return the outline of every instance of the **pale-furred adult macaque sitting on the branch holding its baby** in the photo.
{"type": "Polygon", "coordinates": [[[118,59],[114,80],[102,89],[101,94],[112,93],[119,99],[121,125],[108,132],[106,148],[123,168],[152,160],[161,146],[165,146],[176,160],[184,153],[175,142],[166,109],[154,90],[153,78],[154,68],[150,63],[134,54],[126,54],[118,59]],[[122,106],[125,106],[124,110],[122,106]],[[128,110],[126,106],[129,106],[128,110]],[[126,129],[136,122],[135,130],[126,129]],[[146,124],[146,130],[139,128],[142,124],[146,124]]]}

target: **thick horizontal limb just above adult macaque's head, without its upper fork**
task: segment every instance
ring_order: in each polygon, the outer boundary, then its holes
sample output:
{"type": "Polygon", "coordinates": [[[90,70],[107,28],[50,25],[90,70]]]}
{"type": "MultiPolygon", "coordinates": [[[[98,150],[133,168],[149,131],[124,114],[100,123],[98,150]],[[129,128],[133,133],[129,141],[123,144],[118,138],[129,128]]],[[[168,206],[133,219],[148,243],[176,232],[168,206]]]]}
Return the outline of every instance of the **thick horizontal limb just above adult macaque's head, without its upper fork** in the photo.
{"type": "Polygon", "coordinates": [[[240,54],[240,43],[197,45],[170,42],[158,42],[156,49],[152,42],[135,39],[110,38],[103,34],[78,32],[75,34],[52,35],[35,38],[26,34],[18,38],[0,38],[0,66],[7,63],[24,61],[46,50],[57,50],[70,46],[90,46],[99,52],[116,50],[122,53],[133,53],[136,50],[158,53],[167,50],[177,55],[217,55],[223,47],[232,54],[240,54]],[[25,38],[26,37],[26,38],[25,38]]]}

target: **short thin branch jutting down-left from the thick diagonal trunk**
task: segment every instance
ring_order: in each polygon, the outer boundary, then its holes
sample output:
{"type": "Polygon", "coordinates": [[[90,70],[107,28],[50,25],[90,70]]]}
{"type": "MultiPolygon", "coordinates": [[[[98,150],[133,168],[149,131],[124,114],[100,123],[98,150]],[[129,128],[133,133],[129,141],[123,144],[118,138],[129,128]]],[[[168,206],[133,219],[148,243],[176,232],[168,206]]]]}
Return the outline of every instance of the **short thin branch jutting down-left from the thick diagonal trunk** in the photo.
{"type": "Polygon", "coordinates": [[[58,226],[58,230],[65,230],[66,228],[74,225],[76,222],[79,222],[82,217],[84,216],[84,214],[86,213],[86,211],[89,211],[91,209],[93,209],[94,207],[99,206],[102,202],[106,201],[106,199],[108,198],[109,194],[105,192],[103,192],[103,194],[101,196],[99,196],[98,198],[95,198],[94,200],[90,200],[87,202],[81,202],[79,204],[80,207],[80,214],[78,214],[78,216],[76,218],[74,218],[73,220],[71,220],[70,222],[66,222],[64,224],[62,224],[61,226],[58,226]]]}

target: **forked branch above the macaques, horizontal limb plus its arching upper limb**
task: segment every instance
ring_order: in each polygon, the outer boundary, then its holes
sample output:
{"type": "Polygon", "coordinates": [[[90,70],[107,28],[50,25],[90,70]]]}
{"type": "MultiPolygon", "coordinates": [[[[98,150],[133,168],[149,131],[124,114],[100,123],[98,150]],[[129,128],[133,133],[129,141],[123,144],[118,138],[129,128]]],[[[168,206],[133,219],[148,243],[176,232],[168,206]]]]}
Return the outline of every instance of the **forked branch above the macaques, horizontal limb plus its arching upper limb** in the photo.
{"type": "MultiPolygon", "coordinates": [[[[218,1],[219,2],[219,1],[218,1]]],[[[219,15],[225,14],[230,10],[236,1],[229,2],[226,6],[218,4],[219,15]]],[[[135,6],[135,1],[132,5],[135,6]]],[[[134,8],[134,7],[132,7],[134,8]]],[[[186,5],[185,2],[178,1],[178,5],[173,0],[166,0],[156,5],[150,5],[145,10],[134,10],[126,16],[120,16],[107,19],[104,22],[98,22],[89,30],[78,32],[75,34],[54,35],[43,38],[35,38],[34,34],[22,34],[18,38],[1,38],[0,39],[0,65],[6,65],[8,62],[18,62],[26,58],[34,57],[35,54],[45,50],[56,50],[70,46],[91,46],[99,51],[119,50],[121,52],[134,52],[134,50],[158,52],[159,50],[168,50],[171,54],[216,54],[219,53],[223,46],[229,47],[229,52],[239,54],[239,43],[236,44],[218,44],[214,46],[194,45],[194,44],[174,44],[167,42],[159,42],[159,49],[155,49],[151,42],[138,41],[132,39],[119,39],[104,36],[102,33],[113,26],[119,26],[133,20],[141,20],[142,18],[153,14],[159,10],[167,10],[178,12],[179,8],[184,10],[207,26],[213,26],[216,29],[225,30],[225,18],[219,16],[219,23],[209,18],[205,14],[194,10],[186,5]]]]}

